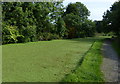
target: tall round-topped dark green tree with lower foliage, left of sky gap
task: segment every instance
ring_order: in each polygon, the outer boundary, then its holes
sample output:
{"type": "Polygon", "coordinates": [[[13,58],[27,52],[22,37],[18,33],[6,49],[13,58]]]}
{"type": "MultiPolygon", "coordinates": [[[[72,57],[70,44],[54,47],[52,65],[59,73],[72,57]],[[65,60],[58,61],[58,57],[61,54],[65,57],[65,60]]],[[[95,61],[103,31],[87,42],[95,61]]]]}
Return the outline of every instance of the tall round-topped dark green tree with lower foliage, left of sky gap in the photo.
{"type": "Polygon", "coordinates": [[[68,38],[78,38],[93,36],[95,33],[94,22],[90,21],[87,17],[89,11],[80,2],[70,3],[66,12],[64,13],[64,21],[68,29],[68,38]]]}

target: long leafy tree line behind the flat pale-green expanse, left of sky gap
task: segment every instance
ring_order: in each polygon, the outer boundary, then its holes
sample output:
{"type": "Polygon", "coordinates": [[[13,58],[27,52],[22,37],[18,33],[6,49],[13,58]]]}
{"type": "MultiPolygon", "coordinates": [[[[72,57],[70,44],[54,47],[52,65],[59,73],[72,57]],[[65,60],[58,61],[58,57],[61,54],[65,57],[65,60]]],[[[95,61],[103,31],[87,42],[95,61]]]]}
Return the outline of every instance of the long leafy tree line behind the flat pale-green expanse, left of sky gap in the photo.
{"type": "Polygon", "coordinates": [[[94,36],[95,24],[80,2],[3,2],[3,44],[94,36]]]}

